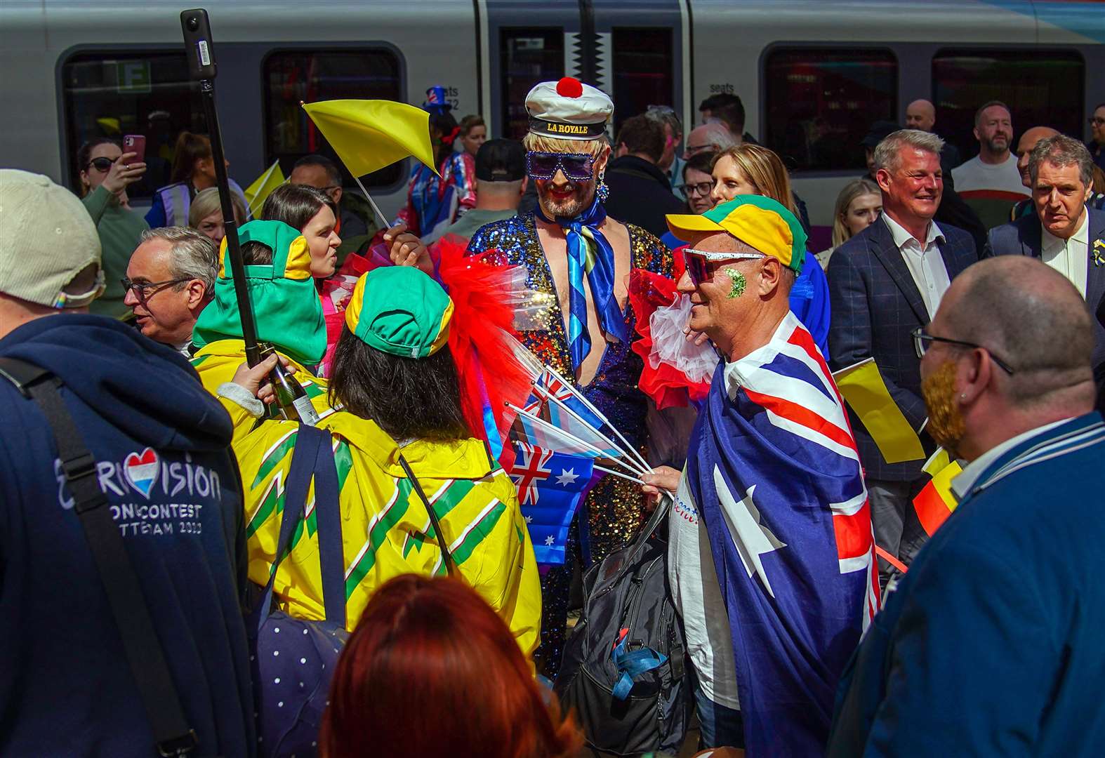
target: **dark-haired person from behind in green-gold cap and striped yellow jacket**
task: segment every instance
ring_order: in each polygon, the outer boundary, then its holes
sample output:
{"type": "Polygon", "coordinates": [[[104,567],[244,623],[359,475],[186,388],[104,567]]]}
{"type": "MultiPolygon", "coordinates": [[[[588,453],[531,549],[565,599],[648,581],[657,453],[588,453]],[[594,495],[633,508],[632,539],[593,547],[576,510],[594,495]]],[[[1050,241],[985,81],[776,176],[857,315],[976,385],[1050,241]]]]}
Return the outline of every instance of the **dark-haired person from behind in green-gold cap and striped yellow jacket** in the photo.
{"type": "MultiPolygon", "coordinates": [[[[537,564],[514,482],[465,421],[449,347],[452,317],[453,302],[433,278],[410,266],[383,266],[357,282],[329,382],[288,361],[301,369],[297,378],[319,411],[318,427],[334,435],[346,625],[356,627],[391,577],[444,573],[444,544],[460,577],[498,612],[528,656],[540,621],[537,564]],[[443,535],[431,527],[401,460],[432,504],[443,535]]],[[[233,381],[214,388],[234,423],[232,446],[249,515],[249,573],[260,585],[269,579],[281,526],[274,487],[287,481],[297,429],[290,421],[254,423],[263,411],[256,397],[272,396],[271,388],[259,386],[274,364],[271,357],[250,368],[239,358],[233,381]]],[[[203,379],[206,365],[198,368],[203,379]]],[[[274,585],[281,608],[301,619],[320,618],[323,608],[313,518],[290,559],[280,564],[274,585]]]]}

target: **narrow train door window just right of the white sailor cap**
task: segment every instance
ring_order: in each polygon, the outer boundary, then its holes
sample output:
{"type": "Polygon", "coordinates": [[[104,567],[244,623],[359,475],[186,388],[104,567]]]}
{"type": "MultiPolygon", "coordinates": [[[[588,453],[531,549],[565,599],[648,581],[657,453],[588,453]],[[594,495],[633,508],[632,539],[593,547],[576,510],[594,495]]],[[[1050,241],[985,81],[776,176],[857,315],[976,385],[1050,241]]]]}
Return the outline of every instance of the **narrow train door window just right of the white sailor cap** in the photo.
{"type": "Polygon", "coordinates": [[[672,30],[615,28],[610,38],[617,134],[623,120],[650,105],[675,105],[672,30]]]}

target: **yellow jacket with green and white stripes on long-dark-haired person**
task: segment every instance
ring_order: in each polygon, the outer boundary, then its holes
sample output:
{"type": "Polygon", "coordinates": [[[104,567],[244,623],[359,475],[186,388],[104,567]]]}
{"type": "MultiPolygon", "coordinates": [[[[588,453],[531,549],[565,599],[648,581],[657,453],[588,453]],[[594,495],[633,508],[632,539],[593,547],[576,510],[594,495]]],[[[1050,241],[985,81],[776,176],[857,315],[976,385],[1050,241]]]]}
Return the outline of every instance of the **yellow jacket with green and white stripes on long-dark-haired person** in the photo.
{"type": "MultiPolygon", "coordinates": [[[[241,340],[213,343],[192,360],[214,392],[242,362],[241,340]],[[236,350],[234,349],[236,348],[236,350]]],[[[334,435],[346,567],[346,627],[351,631],[372,592],[401,573],[444,575],[430,515],[399,465],[400,448],[373,421],[326,404],[326,380],[296,375],[334,435]],[[314,389],[313,389],[314,388],[314,389]]],[[[255,419],[222,399],[234,423],[233,449],[245,489],[250,579],[269,580],[276,551],[286,481],[297,425],[255,419]]],[[[532,655],[540,628],[541,597],[529,531],[517,489],[475,439],[453,443],[414,441],[401,450],[433,504],[450,551],[464,580],[514,632],[532,655]]],[[[323,619],[322,578],[314,510],[307,495],[306,538],[297,529],[292,552],[276,572],[281,608],[301,619],[323,619]]]]}

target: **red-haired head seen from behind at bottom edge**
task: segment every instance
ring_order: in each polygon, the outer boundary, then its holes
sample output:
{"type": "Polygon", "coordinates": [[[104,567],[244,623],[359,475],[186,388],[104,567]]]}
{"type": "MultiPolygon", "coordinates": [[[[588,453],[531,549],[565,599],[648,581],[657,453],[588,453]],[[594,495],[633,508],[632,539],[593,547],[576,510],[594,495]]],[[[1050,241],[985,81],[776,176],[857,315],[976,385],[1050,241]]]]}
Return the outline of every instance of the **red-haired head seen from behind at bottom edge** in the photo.
{"type": "Polygon", "coordinates": [[[483,598],[453,579],[407,573],[365,608],[334,672],[319,741],[325,758],[561,758],[581,738],[483,598]]]}

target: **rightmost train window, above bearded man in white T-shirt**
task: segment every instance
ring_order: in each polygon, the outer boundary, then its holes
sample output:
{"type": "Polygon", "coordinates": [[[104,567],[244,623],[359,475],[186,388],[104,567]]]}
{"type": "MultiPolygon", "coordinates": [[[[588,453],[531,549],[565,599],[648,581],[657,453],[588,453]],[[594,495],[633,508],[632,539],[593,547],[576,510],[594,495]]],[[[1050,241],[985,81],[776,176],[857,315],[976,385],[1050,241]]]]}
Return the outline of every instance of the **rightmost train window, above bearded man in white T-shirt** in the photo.
{"type": "MultiPolygon", "coordinates": [[[[978,155],[975,112],[1001,101],[1013,134],[1045,124],[1082,134],[1085,62],[1073,50],[940,50],[933,56],[936,130],[966,159],[978,155]]],[[[1011,147],[1017,147],[1015,143],[1011,147]]]]}

